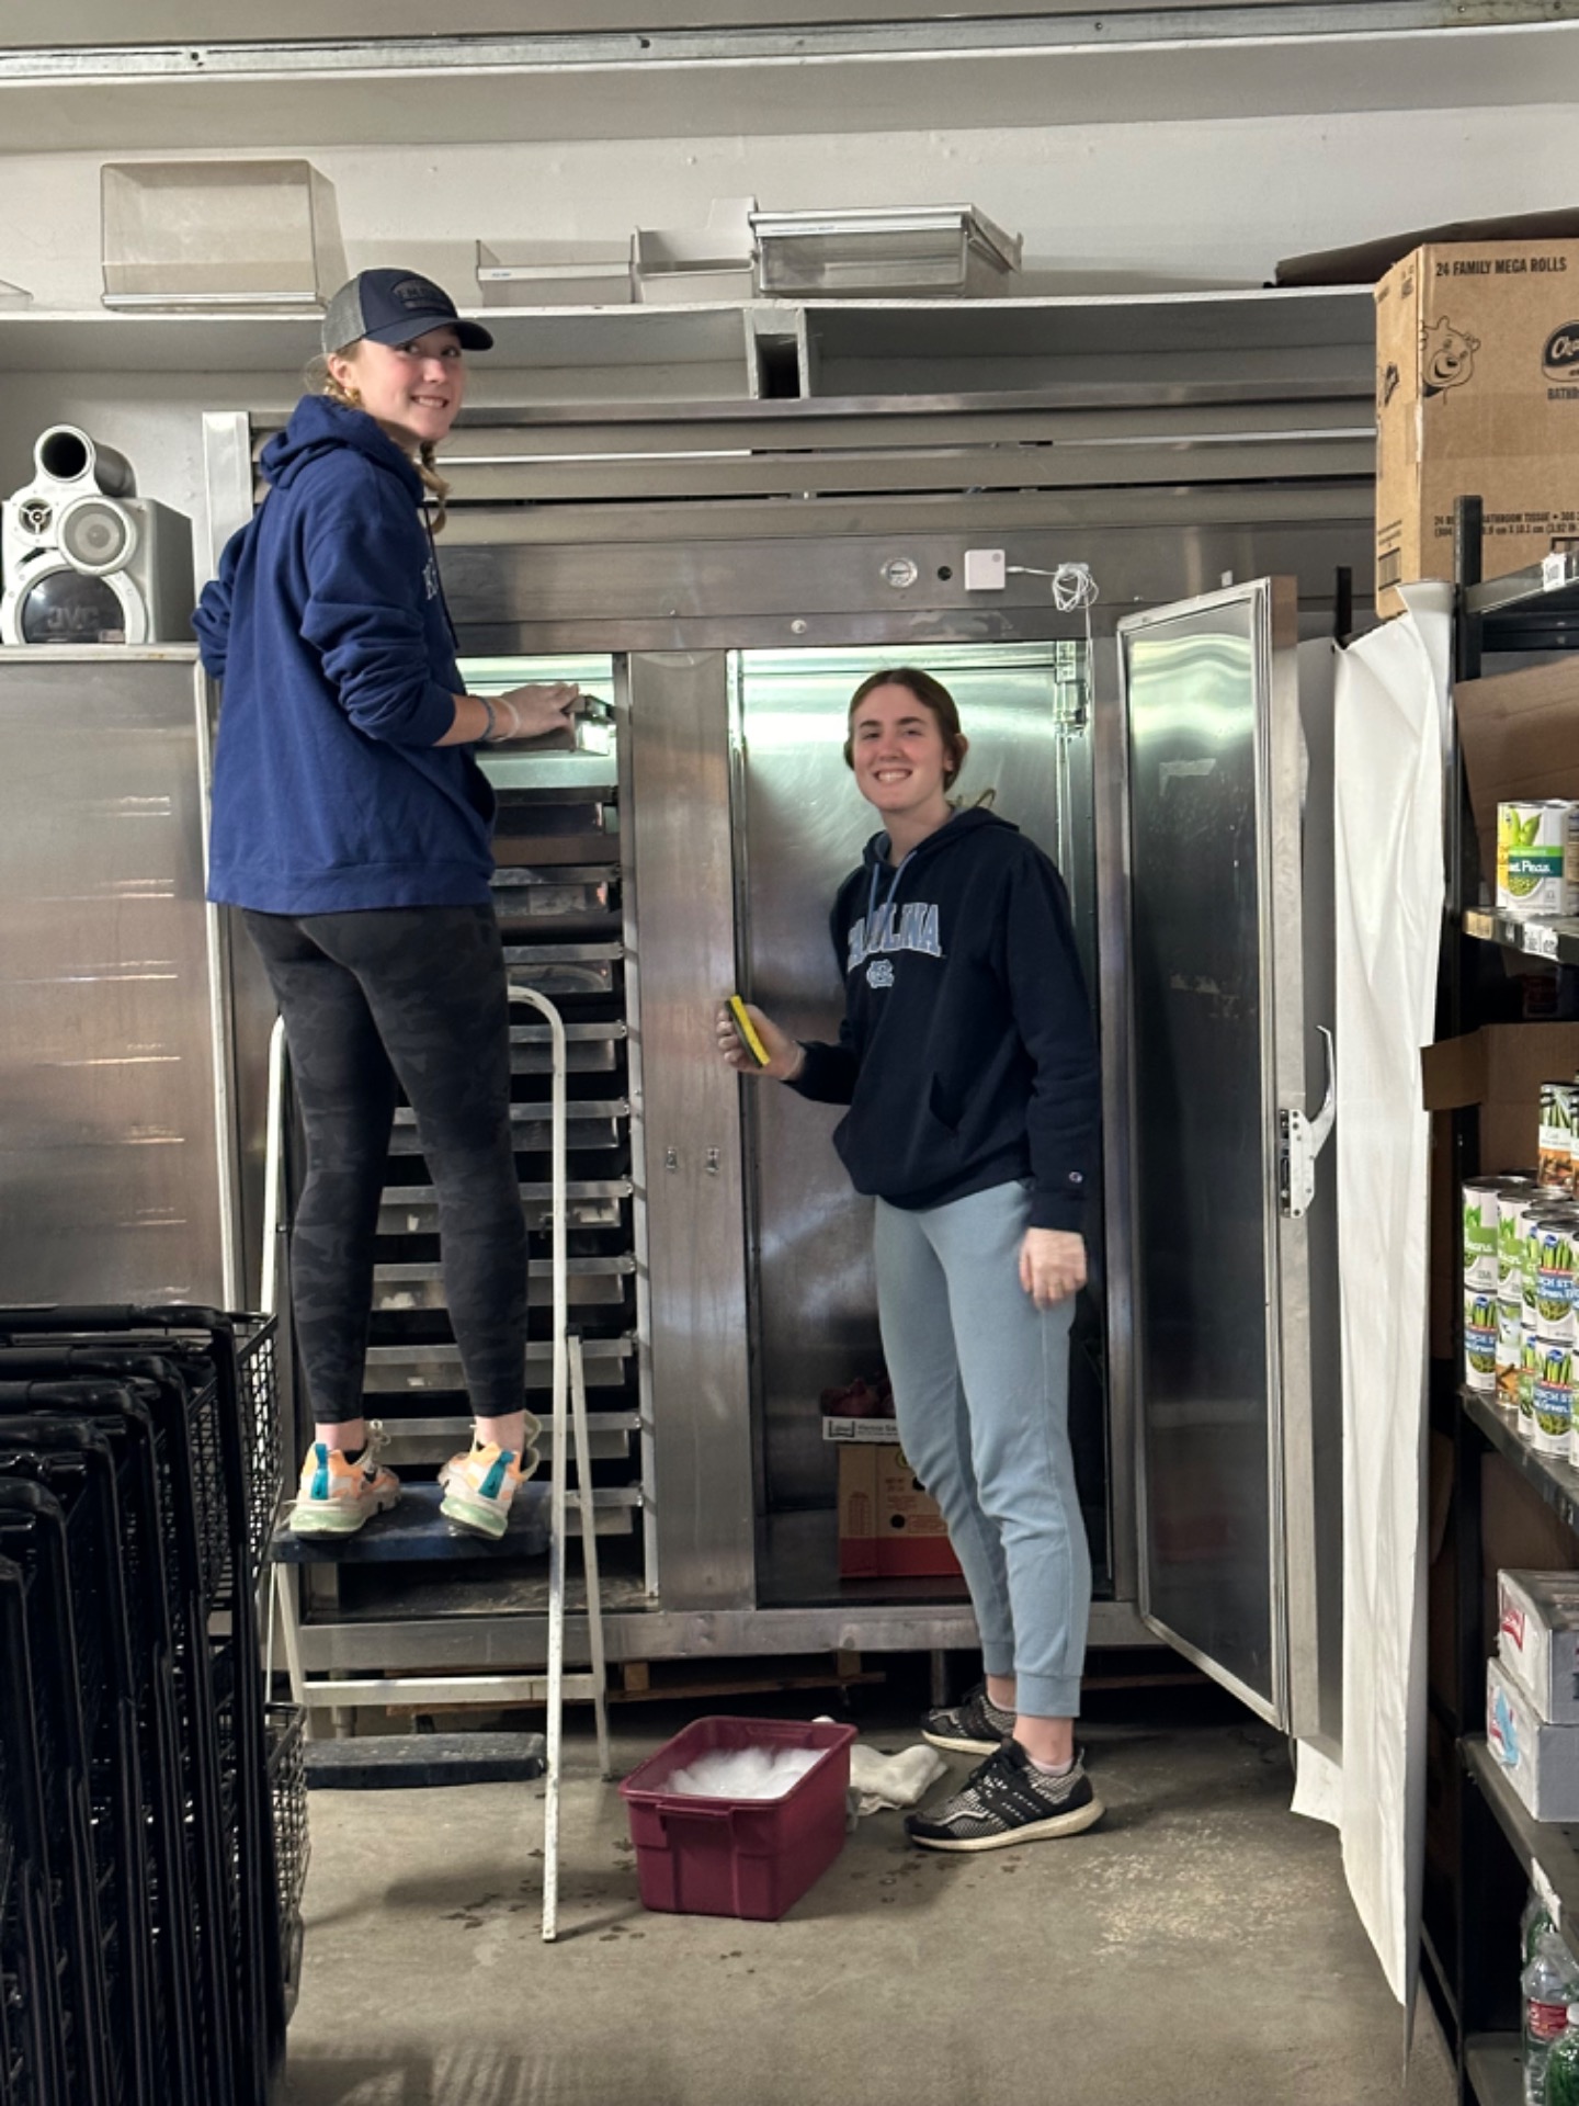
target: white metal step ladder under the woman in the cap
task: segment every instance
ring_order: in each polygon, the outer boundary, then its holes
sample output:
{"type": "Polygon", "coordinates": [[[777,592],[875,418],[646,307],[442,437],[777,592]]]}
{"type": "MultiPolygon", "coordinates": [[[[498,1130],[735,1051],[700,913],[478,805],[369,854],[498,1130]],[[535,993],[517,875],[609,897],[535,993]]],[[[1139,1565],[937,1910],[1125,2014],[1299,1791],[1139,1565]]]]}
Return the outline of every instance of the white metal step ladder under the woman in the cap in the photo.
{"type": "MultiPolygon", "coordinates": [[[[314,1765],[314,1742],[307,1744],[309,1782],[322,1786],[377,1788],[398,1784],[480,1782],[503,1775],[545,1775],[543,1799],[543,1940],[558,1935],[560,1885],[560,1773],[564,1752],[564,1702],[592,1702],[598,1731],[598,1769],[611,1775],[608,1754],[608,1670],[602,1630],[602,1592],[598,1584],[598,1527],[592,1489],[592,1434],[587,1426],[587,1386],[581,1337],[571,1327],[571,1261],[566,1207],[566,1030],[558,1009],[535,988],[509,986],[512,1002],[539,1011],[552,1045],[549,1099],[549,1224],[552,1224],[552,1413],[549,1413],[549,1485],[547,1499],[539,1487],[524,1485],[516,1493],[512,1525],[495,1546],[474,1537],[453,1535],[438,1516],[436,1487],[408,1487],[400,1506],[377,1516],[343,1544],[324,1537],[297,1537],[282,1521],[274,1529],[269,1561],[269,1647],[278,1622],[284,1641],[291,1695],[309,1718],[314,1712],[356,1704],[411,1704],[461,1710],[465,1706],[545,1704],[547,1735],[379,1735],[366,1742],[318,1742],[324,1761],[314,1765]],[[575,1510],[581,1525],[581,1563],[587,1598],[587,1666],[566,1672],[564,1664],[564,1588],[566,1537],[571,1525],[568,1459],[575,1441],[575,1510]],[[427,1493],[432,1491],[432,1497],[427,1493]],[[547,1512],[543,1514],[543,1506],[547,1512]],[[419,1563],[442,1556],[531,1556],[537,1533],[547,1525],[547,1672],[545,1674],[398,1674],[314,1676],[301,1666],[301,1622],[293,1567],[322,1563],[419,1563]],[[476,1742],[467,1761],[465,1742],[476,1742]],[[440,1746],[442,1744],[442,1746],[440,1746]],[[514,1752],[507,1744],[516,1744],[514,1752]],[[539,1752],[541,1750],[541,1752],[539,1752]],[[314,1769],[318,1771],[314,1775],[314,1769]]],[[[269,1047],[267,1106],[267,1190],[263,1221],[263,1308],[274,1312],[282,1299],[282,1257],[286,1253],[284,1219],[284,1104],[288,1057],[284,1026],[276,1021],[269,1047]]],[[[272,1670],[272,1657],[267,1660],[272,1670]]]]}

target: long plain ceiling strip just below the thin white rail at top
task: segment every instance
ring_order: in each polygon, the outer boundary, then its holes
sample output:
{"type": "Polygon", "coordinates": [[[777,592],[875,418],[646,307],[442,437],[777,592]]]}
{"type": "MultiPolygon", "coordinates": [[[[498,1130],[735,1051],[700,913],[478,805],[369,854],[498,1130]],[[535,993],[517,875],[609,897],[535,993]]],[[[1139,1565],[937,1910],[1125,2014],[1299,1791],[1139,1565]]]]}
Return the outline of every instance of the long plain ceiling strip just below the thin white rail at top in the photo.
{"type": "MultiPolygon", "coordinates": [[[[1579,107],[1579,23],[861,59],[4,80],[8,152],[280,152],[1579,107]]],[[[1556,118],[1547,120],[1556,122],[1556,118]]],[[[1579,131],[1573,118],[1562,120],[1579,131]]]]}

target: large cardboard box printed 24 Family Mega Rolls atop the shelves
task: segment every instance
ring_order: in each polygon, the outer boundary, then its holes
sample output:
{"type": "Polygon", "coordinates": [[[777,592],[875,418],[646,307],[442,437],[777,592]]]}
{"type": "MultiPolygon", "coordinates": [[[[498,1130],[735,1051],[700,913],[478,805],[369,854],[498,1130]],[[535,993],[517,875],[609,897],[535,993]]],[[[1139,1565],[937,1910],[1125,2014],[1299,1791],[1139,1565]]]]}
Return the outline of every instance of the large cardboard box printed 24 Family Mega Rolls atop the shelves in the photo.
{"type": "Polygon", "coordinates": [[[1415,249],[1377,286],[1377,611],[1453,577],[1453,501],[1484,499],[1482,573],[1579,535],[1579,242],[1415,249]]]}

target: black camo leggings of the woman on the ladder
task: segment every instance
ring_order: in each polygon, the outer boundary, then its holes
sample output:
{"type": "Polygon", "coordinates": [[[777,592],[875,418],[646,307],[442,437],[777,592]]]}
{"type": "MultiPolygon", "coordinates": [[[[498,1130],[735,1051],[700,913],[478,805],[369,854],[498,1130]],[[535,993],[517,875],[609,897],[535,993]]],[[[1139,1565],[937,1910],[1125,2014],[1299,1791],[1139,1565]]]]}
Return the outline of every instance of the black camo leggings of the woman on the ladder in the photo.
{"type": "Polygon", "coordinates": [[[493,908],[244,912],[284,1017],[307,1184],[291,1299],[316,1424],[362,1417],[373,1238],[396,1082],[438,1192],[478,1417],[526,1400],[526,1217],[509,1146],[509,1007],[493,908]]]}

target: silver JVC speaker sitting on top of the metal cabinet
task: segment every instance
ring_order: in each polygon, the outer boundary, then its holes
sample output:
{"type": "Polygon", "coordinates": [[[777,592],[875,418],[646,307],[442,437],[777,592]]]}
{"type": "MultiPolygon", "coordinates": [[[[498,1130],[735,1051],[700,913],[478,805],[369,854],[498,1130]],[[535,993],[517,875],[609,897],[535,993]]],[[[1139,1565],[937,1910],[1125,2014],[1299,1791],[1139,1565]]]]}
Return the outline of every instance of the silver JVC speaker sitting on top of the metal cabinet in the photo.
{"type": "Polygon", "coordinates": [[[0,644],[192,642],[192,524],[133,497],[133,472],[57,423],[0,505],[0,644]]]}

